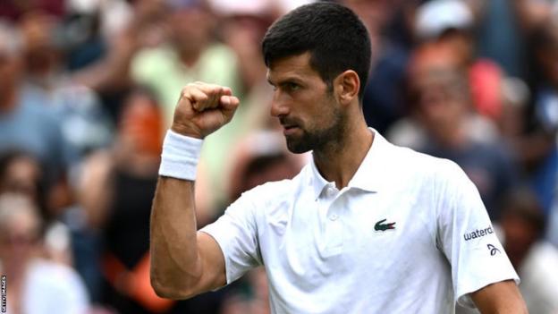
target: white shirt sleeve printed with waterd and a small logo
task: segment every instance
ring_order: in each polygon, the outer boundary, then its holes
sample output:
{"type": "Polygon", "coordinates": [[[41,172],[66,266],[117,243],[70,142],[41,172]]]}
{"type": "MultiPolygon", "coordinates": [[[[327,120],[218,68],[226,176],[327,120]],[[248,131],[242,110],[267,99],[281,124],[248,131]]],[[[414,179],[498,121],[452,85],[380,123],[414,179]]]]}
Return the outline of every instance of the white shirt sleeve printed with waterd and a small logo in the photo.
{"type": "Polygon", "coordinates": [[[453,162],[441,167],[436,242],[450,261],[454,298],[474,307],[469,293],[519,276],[496,237],[477,188],[453,162]]]}

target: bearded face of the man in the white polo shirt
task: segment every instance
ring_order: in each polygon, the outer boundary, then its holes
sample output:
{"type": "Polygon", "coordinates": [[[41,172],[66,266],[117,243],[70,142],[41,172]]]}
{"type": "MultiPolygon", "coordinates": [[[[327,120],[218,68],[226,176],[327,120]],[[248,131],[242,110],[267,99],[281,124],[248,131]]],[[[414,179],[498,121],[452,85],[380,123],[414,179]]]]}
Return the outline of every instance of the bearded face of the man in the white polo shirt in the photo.
{"type": "Polygon", "coordinates": [[[334,92],[309,60],[309,53],[286,57],[267,71],[275,90],[271,115],[279,119],[287,147],[296,154],[335,145],[342,139],[346,121],[334,92]]]}

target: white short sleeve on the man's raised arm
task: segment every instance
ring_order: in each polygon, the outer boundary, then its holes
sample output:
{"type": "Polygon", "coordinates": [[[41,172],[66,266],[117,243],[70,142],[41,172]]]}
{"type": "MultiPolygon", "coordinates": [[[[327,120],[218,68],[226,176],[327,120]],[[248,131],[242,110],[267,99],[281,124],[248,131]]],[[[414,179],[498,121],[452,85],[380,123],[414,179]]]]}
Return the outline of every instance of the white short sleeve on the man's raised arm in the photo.
{"type": "Polygon", "coordinates": [[[252,199],[253,192],[242,194],[215,223],[199,230],[211,235],[221,247],[227,284],[261,264],[256,206],[252,199]]]}

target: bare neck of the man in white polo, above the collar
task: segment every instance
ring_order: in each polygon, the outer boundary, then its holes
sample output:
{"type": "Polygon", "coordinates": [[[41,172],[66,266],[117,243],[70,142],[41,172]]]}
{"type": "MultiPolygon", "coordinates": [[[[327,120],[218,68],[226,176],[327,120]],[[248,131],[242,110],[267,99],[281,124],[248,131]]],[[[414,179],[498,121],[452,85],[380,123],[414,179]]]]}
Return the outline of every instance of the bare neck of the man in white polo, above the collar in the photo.
{"type": "Polygon", "coordinates": [[[314,163],[320,174],[342,189],[351,181],[372,146],[374,134],[368,130],[364,117],[348,121],[342,139],[331,142],[325,148],[313,152],[314,163]]]}

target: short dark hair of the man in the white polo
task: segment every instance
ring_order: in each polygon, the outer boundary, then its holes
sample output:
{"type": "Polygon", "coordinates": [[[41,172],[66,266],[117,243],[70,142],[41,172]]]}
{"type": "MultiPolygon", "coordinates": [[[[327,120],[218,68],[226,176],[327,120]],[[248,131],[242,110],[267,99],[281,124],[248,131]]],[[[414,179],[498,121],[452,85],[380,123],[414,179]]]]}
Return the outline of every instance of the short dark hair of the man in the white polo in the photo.
{"type": "Polygon", "coordinates": [[[262,42],[264,62],[310,53],[310,66],[331,87],[340,73],[353,70],[362,99],[370,70],[370,38],[359,17],[341,4],[318,2],[298,7],[267,30],[262,42]]]}

